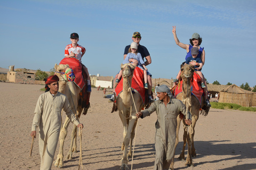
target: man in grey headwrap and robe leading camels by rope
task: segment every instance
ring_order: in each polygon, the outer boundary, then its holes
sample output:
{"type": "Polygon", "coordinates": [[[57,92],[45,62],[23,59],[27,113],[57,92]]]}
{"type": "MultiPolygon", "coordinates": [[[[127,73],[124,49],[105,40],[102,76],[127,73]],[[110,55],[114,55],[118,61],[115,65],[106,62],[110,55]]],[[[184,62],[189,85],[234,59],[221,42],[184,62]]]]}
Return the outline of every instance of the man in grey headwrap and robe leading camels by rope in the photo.
{"type": "MultiPolygon", "coordinates": [[[[159,86],[156,91],[159,100],[154,101],[148,109],[138,112],[137,117],[150,116],[151,113],[156,111],[156,159],[154,170],[164,170],[169,169],[175,153],[177,116],[180,112],[186,116],[186,107],[180,100],[173,99],[171,91],[166,85],[159,86]]],[[[191,124],[191,120],[186,119],[185,122],[187,125],[191,124]]]]}

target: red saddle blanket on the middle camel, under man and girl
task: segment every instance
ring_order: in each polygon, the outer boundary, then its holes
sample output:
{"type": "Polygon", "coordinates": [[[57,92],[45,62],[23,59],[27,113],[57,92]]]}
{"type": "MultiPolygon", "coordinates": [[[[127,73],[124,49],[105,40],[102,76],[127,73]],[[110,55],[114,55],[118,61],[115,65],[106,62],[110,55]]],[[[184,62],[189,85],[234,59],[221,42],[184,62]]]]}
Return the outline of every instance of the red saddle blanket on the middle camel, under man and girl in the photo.
{"type": "MultiPolygon", "coordinates": [[[[140,94],[143,104],[145,104],[146,89],[144,88],[144,76],[143,76],[143,71],[139,67],[136,67],[133,71],[131,87],[132,89],[136,90],[140,94]]],[[[120,80],[120,82],[116,86],[116,89],[115,89],[116,97],[122,91],[123,91],[123,78],[120,80]]]]}

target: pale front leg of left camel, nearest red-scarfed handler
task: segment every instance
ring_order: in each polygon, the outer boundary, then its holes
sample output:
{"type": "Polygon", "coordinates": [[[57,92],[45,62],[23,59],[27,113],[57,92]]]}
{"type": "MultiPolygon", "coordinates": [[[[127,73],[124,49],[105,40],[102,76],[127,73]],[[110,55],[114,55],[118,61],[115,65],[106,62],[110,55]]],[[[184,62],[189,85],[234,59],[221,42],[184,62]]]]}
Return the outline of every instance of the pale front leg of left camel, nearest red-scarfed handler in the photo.
{"type": "Polygon", "coordinates": [[[67,136],[69,123],[70,123],[70,120],[68,117],[66,117],[66,120],[62,126],[62,129],[60,130],[60,137],[59,137],[60,150],[59,150],[59,154],[58,154],[57,159],[54,164],[55,167],[62,168],[62,166],[63,166],[63,146],[64,146],[64,140],[67,136]]]}

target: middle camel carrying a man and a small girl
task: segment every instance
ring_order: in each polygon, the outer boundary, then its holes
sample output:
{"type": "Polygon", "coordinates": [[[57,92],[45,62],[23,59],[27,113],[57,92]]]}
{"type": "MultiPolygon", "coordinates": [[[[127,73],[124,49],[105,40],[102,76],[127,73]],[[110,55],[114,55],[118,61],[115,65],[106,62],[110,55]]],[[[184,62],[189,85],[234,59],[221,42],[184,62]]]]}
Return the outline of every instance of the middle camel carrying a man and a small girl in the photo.
{"type": "Polygon", "coordinates": [[[123,136],[124,141],[122,144],[122,150],[124,150],[122,164],[120,169],[127,170],[129,167],[128,164],[128,156],[132,157],[132,141],[134,138],[134,130],[137,125],[138,118],[136,116],[136,111],[140,112],[143,107],[143,101],[137,91],[131,94],[131,82],[133,77],[133,71],[136,66],[133,66],[130,63],[122,64],[121,69],[123,71],[123,91],[117,97],[117,108],[119,111],[119,117],[123,123],[123,136]],[[133,99],[134,103],[133,103],[133,99]],[[136,109],[135,109],[136,108],[136,109]],[[127,153],[129,143],[130,144],[130,151],[127,153]]]}

